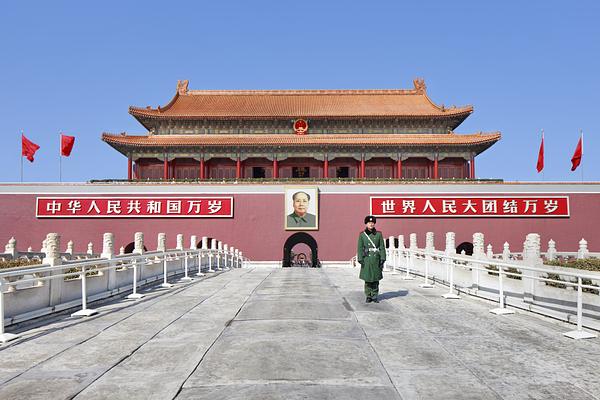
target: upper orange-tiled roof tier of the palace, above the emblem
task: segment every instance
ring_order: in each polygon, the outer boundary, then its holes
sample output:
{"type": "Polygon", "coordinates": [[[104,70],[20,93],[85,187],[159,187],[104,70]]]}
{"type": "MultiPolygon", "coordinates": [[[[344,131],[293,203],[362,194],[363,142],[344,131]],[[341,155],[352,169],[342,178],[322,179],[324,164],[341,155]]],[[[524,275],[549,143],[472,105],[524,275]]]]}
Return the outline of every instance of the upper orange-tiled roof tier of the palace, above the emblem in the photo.
{"type": "Polygon", "coordinates": [[[129,113],[140,122],[152,119],[451,117],[460,123],[473,112],[472,106],[435,104],[427,96],[425,81],[420,78],[413,81],[413,89],[381,90],[188,90],[188,83],[178,81],[175,96],[165,106],[130,107],[129,113]]]}

